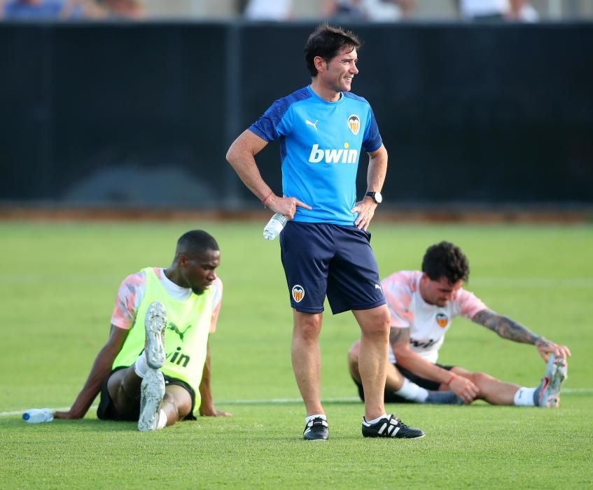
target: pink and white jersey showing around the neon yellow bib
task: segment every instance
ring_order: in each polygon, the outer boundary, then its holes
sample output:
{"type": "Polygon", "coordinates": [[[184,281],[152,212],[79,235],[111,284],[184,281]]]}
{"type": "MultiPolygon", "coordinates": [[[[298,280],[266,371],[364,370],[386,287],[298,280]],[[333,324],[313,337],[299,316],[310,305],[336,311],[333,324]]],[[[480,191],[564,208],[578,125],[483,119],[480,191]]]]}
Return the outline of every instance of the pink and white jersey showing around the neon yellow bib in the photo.
{"type": "MultiPolygon", "coordinates": [[[[153,267],[162,287],[171,295],[174,300],[184,301],[192,294],[191,288],[182,288],[165,276],[165,270],[160,267],[153,267]]],[[[210,321],[210,333],[216,331],[218,313],[221,311],[223,299],[223,281],[220,278],[210,286],[212,290],[212,318],[210,321]]],[[[136,312],[146,293],[146,274],[144,271],[127,276],[121,283],[116,296],[116,306],[111,314],[111,324],[119,328],[130,330],[136,319],[136,312]]]]}

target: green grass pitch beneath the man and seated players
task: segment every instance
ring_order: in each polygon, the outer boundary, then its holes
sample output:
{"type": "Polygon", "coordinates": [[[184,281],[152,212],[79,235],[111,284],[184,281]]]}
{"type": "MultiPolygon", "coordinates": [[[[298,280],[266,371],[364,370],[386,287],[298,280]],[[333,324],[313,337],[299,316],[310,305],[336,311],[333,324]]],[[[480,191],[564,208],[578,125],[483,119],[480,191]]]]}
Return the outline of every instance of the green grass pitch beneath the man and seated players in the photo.
{"type": "MultiPolygon", "coordinates": [[[[0,223],[0,488],[565,488],[593,487],[593,226],[372,226],[382,276],[418,268],[449,239],[470,259],[468,288],[491,309],[567,344],[561,408],[388,405],[421,440],[365,440],[347,373],[351,314],[327,311],[321,333],[328,442],[301,439],[304,409],[290,361],[291,310],[278,241],[264,223],[0,223]],[[67,407],[109,332],[120,281],[167,266],[191,228],[222,250],[225,285],[211,339],[216,405],[156,433],[134,423],[27,424],[29,407],[67,407]]],[[[440,360],[535,386],[532,346],[457,318],[440,360]]],[[[97,402],[97,401],[96,401],[97,402]]]]}

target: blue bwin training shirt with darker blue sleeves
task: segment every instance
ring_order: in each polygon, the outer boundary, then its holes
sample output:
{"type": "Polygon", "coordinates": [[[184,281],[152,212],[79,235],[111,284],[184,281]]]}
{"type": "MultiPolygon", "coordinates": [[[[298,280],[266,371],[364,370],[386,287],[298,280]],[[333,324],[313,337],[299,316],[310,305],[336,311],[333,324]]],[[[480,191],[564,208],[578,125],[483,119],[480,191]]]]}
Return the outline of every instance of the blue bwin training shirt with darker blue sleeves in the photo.
{"type": "Polygon", "coordinates": [[[249,130],[265,141],[280,139],[282,193],[309,204],[294,221],[352,225],[361,148],[382,145],[370,104],[350,92],[326,102],[304,87],[278,99],[249,130]]]}

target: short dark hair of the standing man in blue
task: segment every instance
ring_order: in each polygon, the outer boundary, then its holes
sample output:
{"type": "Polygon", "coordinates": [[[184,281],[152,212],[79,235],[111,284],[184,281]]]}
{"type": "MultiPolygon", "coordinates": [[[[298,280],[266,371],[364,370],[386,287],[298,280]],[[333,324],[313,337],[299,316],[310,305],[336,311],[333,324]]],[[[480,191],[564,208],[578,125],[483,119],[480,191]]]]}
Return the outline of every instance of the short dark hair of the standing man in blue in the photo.
{"type": "Polygon", "coordinates": [[[315,57],[321,56],[326,61],[335,57],[342,49],[349,48],[351,52],[361,46],[356,34],[346,31],[342,27],[328,24],[318,26],[305,44],[305,62],[311,76],[317,76],[315,57]]]}

